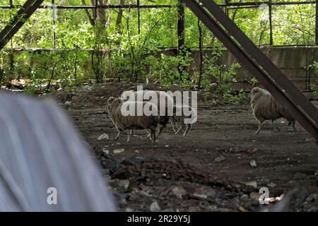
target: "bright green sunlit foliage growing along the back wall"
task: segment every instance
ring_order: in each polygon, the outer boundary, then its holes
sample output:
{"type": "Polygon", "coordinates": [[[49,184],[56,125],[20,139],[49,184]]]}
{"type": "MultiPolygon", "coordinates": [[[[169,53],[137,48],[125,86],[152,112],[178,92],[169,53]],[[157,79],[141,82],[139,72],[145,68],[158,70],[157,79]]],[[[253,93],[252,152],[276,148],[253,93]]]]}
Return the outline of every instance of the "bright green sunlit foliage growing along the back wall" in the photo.
{"type": "MultiPolygon", "coordinates": [[[[14,5],[24,2],[13,0],[14,5]]],[[[136,4],[131,0],[101,2],[136,4]]],[[[222,0],[216,2],[223,3],[222,0]]],[[[85,0],[85,3],[90,5],[91,1],[85,0]]],[[[6,4],[8,1],[3,1],[3,5],[6,4]]],[[[43,4],[50,5],[51,1],[45,0],[43,4]]],[[[82,1],[66,0],[59,4],[81,6],[82,1]]],[[[141,0],[140,4],[176,6],[177,1],[141,0]]],[[[0,9],[0,28],[17,10],[0,9]]],[[[182,56],[175,49],[167,48],[177,47],[177,8],[141,8],[139,11],[124,8],[122,16],[118,8],[100,10],[94,17],[91,9],[58,9],[55,21],[52,20],[52,9],[35,11],[14,35],[12,42],[6,45],[6,51],[0,52],[0,83],[6,84],[13,78],[28,78],[33,82],[25,93],[34,93],[56,81],[64,88],[86,81],[100,83],[108,80],[156,83],[166,88],[178,85],[188,89],[199,83],[199,69],[194,66],[191,52],[186,51],[182,56]],[[11,45],[14,49],[26,50],[13,52],[11,45]],[[30,48],[43,50],[29,51],[30,48]],[[52,48],[55,50],[47,51],[52,48]]],[[[264,10],[266,14],[268,9],[264,10]]],[[[261,19],[259,8],[232,8],[228,12],[255,44],[269,44],[269,21],[261,19]]],[[[272,23],[273,44],[314,43],[314,4],[273,6],[272,23]]],[[[240,65],[221,64],[223,44],[204,25],[201,31],[204,50],[210,49],[210,52],[204,52],[201,74],[204,95],[208,98],[209,93],[213,93],[226,102],[242,100],[244,92],[235,93],[232,88],[237,83],[236,71],[240,65]]],[[[199,28],[197,18],[189,8],[185,8],[184,32],[184,47],[197,49],[199,28]]],[[[317,68],[317,63],[314,66],[317,68]]],[[[257,80],[252,78],[249,83],[257,85],[257,80]]]]}

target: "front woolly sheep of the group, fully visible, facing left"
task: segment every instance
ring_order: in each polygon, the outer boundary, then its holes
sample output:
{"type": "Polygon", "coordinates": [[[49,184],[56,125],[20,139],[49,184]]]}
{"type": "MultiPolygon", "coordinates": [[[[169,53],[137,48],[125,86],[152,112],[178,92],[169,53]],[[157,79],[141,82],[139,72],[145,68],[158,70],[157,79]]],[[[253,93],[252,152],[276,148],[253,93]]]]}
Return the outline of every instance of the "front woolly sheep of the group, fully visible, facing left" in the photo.
{"type": "Polygon", "coordinates": [[[158,109],[155,105],[149,102],[124,102],[120,97],[110,97],[107,101],[107,111],[112,123],[118,131],[117,136],[114,138],[115,140],[119,138],[122,131],[126,131],[128,142],[133,129],[149,129],[151,131],[151,141],[155,142],[155,129],[160,122],[158,109]],[[141,106],[143,109],[145,106],[148,107],[148,109],[156,112],[157,115],[151,114],[147,116],[144,113],[141,116],[137,115],[137,108],[141,106]],[[134,107],[134,115],[124,115],[122,109],[130,109],[130,107],[134,107]]]}

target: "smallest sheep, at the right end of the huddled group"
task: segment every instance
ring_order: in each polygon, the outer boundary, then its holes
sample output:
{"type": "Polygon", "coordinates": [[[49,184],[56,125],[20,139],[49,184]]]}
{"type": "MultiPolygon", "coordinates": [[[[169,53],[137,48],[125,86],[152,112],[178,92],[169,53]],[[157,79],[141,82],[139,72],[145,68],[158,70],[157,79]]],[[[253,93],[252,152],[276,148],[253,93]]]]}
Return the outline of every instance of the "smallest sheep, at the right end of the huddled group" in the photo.
{"type": "Polygon", "coordinates": [[[192,107],[188,105],[182,105],[182,106],[175,105],[173,107],[173,116],[170,117],[170,122],[171,122],[173,131],[175,131],[175,134],[177,134],[180,131],[184,131],[185,129],[183,136],[186,136],[187,133],[192,129],[192,123],[196,121],[196,118],[197,118],[196,111],[192,107]],[[191,112],[191,114],[189,114],[189,116],[186,116],[182,109],[188,109],[189,112],[191,112]],[[192,120],[189,121],[189,119],[192,119],[192,120]],[[177,129],[177,122],[181,124],[179,129],[177,129]]]}

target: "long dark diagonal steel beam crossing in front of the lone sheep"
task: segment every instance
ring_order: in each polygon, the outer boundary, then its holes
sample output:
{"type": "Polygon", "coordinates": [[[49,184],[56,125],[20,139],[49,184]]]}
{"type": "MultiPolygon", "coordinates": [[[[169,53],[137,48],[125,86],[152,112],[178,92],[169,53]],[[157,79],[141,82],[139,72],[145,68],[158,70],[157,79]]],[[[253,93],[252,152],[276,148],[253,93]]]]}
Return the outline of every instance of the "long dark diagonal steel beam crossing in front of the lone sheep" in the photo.
{"type": "Polygon", "coordinates": [[[318,110],[211,0],[183,0],[318,143],[318,110]]]}

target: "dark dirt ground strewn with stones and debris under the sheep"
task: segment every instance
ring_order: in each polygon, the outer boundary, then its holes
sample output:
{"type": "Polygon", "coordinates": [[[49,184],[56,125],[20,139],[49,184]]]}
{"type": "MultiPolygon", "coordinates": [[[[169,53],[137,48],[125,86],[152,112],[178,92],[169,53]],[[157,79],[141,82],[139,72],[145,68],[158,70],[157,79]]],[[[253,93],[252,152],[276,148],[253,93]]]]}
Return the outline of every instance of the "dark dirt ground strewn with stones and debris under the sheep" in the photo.
{"type": "Polygon", "coordinates": [[[276,121],[281,131],[276,131],[266,122],[256,135],[257,121],[248,100],[226,105],[199,96],[198,121],[188,136],[175,135],[168,125],[155,143],[145,138],[145,131],[136,131],[142,138],[126,142],[122,134],[114,141],[107,99],[135,88],[135,84],[107,83],[55,95],[100,160],[119,210],[280,208],[283,202],[259,204],[261,187],[269,189],[270,201],[283,196],[290,200],[281,210],[318,210],[318,146],[299,124],[290,131],[281,119],[276,121]],[[98,141],[103,133],[109,139],[98,141]],[[251,166],[253,160],[256,167],[251,166]]]}

